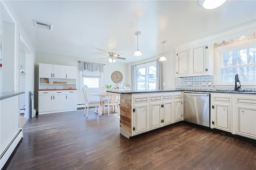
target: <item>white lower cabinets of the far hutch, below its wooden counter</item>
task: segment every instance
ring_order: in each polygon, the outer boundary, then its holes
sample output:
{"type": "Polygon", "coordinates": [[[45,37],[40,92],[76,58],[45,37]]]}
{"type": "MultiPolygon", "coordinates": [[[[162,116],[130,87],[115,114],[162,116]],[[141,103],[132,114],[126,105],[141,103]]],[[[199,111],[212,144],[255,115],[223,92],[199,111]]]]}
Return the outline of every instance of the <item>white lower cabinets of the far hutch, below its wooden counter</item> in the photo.
{"type": "Polygon", "coordinates": [[[38,114],[43,115],[64,111],[76,111],[76,90],[73,90],[73,92],[74,94],[66,95],[66,90],[38,91],[38,114]]]}

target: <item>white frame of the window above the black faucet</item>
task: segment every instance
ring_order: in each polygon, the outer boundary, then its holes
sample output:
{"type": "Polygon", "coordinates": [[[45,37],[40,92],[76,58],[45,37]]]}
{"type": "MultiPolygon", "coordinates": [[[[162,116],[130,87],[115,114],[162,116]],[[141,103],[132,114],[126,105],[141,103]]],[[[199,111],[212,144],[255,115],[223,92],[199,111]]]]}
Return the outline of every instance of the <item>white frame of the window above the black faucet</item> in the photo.
{"type": "MultiPolygon", "coordinates": [[[[235,44],[227,45],[223,47],[214,48],[214,85],[220,85],[220,86],[234,85],[234,82],[232,83],[222,82],[222,68],[223,68],[222,53],[226,51],[233,51],[236,49],[249,48],[249,47],[255,47],[255,39],[250,41],[235,43],[235,44]]],[[[246,64],[245,66],[252,66],[252,65],[255,65],[255,64],[246,64]]],[[[232,67],[235,67],[235,66],[232,66],[232,67]]],[[[244,87],[245,86],[251,87],[253,85],[255,87],[255,83],[256,82],[241,82],[241,85],[244,87]]]]}

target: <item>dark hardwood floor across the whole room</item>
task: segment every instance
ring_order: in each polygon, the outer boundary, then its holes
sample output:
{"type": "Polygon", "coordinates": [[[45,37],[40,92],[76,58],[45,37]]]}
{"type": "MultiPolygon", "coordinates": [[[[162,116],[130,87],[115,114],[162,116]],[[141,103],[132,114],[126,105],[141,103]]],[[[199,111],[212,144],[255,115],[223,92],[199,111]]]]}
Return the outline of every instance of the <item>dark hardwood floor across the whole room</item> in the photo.
{"type": "Polygon", "coordinates": [[[256,143],[183,122],[126,139],[117,113],[90,109],[39,115],[6,170],[256,169],[256,143]]]}

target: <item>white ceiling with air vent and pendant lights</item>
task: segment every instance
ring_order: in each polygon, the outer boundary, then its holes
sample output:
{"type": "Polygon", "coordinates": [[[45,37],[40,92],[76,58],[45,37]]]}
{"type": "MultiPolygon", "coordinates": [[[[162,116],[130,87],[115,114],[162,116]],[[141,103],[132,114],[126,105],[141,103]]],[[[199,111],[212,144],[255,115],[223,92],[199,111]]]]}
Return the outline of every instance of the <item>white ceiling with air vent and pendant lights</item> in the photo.
{"type": "MultiPolygon", "coordinates": [[[[198,0],[169,1],[10,1],[36,51],[100,59],[114,51],[126,60],[140,61],[174,50],[174,46],[256,20],[255,0],[227,0],[206,10],[198,0]],[[33,20],[53,24],[53,30],[33,20]],[[141,57],[135,31],[139,36],[141,57]]],[[[107,59],[102,59],[107,61],[107,59]]]]}

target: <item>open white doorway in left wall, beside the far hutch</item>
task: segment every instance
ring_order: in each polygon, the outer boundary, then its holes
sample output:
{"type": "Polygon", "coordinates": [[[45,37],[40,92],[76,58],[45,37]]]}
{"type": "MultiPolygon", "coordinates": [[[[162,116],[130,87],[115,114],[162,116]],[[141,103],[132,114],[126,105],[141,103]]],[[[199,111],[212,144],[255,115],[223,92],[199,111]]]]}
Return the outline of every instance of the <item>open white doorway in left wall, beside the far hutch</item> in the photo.
{"type": "Polygon", "coordinates": [[[34,108],[31,98],[33,92],[33,54],[23,37],[20,35],[20,91],[25,92],[20,95],[20,127],[26,123],[34,108]]]}

